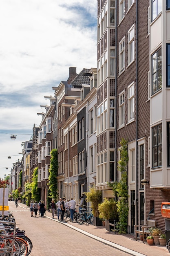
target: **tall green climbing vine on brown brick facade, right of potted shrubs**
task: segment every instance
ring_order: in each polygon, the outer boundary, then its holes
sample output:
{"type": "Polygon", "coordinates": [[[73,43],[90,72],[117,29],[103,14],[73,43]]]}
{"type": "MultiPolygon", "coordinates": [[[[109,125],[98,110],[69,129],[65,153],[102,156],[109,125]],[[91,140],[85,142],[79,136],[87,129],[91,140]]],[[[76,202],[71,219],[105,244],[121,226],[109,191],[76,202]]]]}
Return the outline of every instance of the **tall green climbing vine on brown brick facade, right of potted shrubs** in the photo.
{"type": "Polygon", "coordinates": [[[112,187],[117,200],[117,210],[119,214],[119,221],[117,222],[117,229],[119,234],[127,233],[128,225],[128,139],[121,139],[120,160],[118,162],[118,171],[121,172],[121,179],[119,182],[108,183],[112,187]]]}

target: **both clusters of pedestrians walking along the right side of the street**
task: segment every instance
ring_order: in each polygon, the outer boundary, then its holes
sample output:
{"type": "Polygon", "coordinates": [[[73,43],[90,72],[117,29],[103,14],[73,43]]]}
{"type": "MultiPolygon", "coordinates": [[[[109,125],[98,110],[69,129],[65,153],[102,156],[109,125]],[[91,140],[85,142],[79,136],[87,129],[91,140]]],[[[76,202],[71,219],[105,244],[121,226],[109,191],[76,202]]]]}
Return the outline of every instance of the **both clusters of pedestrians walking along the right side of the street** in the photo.
{"type": "MultiPolygon", "coordinates": [[[[66,202],[65,197],[60,198],[60,200],[56,204],[55,204],[54,200],[52,199],[49,209],[52,213],[53,219],[54,219],[54,213],[57,211],[57,217],[58,217],[59,221],[64,221],[65,211],[68,211],[68,213],[70,212],[70,221],[73,222],[73,215],[74,215],[76,205],[79,206],[79,212],[80,212],[81,209],[83,208],[83,206],[85,205],[85,200],[84,200],[83,196],[81,196],[79,204],[76,204],[76,202],[73,198],[71,198],[71,200],[68,199],[67,202],[66,202]],[[60,214],[61,214],[61,216],[60,216],[60,214]]],[[[33,217],[33,212],[34,212],[35,218],[36,218],[38,210],[40,213],[40,217],[43,218],[44,213],[46,211],[46,206],[44,204],[44,201],[40,200],[39,203],[37,201],[35,201],[35,203],[33,203],[33,201],[31,201],[31,203],[30,203],[31,217],[33,217]]]]}

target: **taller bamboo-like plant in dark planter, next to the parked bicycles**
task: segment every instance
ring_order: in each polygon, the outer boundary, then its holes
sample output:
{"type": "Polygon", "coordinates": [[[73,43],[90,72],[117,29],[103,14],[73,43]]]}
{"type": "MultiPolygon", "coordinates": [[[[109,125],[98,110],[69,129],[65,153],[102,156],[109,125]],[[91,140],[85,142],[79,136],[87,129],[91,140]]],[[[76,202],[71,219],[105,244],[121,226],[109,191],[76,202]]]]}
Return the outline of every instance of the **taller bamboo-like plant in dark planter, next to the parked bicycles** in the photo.
{"type": "Polygon", "coordinates": [[[93,186],[89,192],[84,193],[86,195],[86,201],[91,202],[91,208],[93,213],[93,225],[102,226],[102,220],[99,219],[98,204],[102,202],[102,191],[96,190],[93,186]]]}

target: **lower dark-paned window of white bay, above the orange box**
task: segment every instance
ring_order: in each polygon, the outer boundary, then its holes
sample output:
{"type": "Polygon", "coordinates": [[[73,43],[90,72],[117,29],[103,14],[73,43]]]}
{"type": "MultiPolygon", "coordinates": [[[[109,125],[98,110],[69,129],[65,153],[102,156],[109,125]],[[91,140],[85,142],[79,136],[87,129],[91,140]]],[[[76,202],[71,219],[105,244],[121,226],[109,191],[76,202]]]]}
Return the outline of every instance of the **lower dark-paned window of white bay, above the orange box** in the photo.
{"type": "Polygon", "coordinates": [[[152,167],[162,166],[162,124],[152,128],[152,167]]]}

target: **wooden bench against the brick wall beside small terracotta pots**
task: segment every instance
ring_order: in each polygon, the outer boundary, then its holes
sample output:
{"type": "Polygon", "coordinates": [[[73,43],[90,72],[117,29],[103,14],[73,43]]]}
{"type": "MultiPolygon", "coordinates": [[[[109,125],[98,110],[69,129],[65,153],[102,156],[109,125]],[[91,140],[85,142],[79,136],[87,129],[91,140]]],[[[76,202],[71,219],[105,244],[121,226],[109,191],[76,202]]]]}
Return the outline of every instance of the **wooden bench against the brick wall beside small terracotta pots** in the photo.
{"type": "Polygon", "coordinates": [[[135,236],[136,236],[136,241],[137,241],[137,234],[142,234],[143,237],[143,243],[145,240],[145,235],[149,235],[150,231],[149,228],[150,227],[156,227],[157,225],[157,221],[156,220],[147,220],[147,224],[146,225],[135,225],[135,236]],[[137,228],[141,227],[141,230],[138,230],[137,228]]]}

